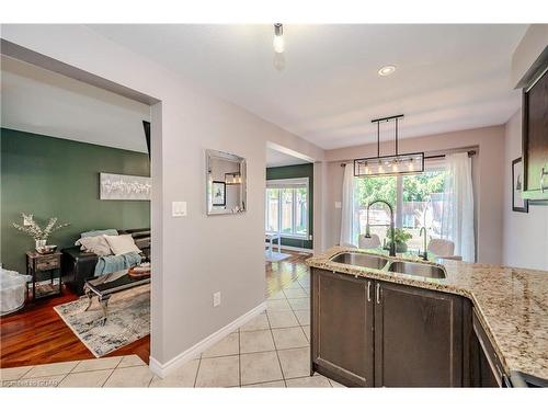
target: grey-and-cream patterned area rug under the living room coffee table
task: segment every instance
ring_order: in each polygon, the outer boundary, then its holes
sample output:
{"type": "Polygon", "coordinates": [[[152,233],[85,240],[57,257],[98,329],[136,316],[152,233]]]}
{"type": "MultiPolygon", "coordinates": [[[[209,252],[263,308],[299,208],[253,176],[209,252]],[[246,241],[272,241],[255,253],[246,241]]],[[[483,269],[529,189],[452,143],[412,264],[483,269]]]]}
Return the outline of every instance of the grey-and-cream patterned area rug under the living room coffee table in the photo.
{"type": "Polygon", "coordinates": [[[84,311],[87,306],[88,297],[83,296],[54,309],[98,358],[150,333],[150,284],[114,294],[104,326],[98,298],[93,297],[90,309],[84,311]]]}

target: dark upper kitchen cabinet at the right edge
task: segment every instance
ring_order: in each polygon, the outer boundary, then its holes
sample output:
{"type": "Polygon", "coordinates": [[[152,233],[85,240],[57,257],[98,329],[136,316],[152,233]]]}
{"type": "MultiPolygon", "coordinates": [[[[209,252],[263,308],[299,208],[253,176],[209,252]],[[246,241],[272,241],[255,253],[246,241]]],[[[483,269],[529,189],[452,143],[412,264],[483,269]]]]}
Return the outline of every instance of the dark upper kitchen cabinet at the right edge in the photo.
{"type": "Polygon", "coordinates": [[[547,69],[548,64],[523,92],[523,197],[529,199],[548,199],[547,69]]]}

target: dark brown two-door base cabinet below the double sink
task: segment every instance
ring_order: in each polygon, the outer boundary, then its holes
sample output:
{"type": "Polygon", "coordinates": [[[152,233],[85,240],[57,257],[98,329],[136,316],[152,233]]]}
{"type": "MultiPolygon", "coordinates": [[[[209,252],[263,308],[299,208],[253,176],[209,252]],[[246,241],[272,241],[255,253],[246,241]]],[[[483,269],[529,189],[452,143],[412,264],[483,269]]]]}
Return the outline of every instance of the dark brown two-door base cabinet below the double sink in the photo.
{"type": "Polygon", "coordinates": [[[312,269],[311,370],[346,386],[461,387],[463,297],[312,269]]]}

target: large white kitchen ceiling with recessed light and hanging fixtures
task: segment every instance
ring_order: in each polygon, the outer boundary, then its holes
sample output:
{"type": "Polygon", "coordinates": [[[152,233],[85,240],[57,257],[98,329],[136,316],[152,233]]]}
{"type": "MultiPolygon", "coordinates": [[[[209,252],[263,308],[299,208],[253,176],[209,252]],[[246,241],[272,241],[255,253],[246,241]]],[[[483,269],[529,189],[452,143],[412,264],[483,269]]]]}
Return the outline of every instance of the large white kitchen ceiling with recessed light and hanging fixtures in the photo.
{"type": "Polygon", "coordinates": [[[288,24],[283,70],[271,25],[90,27],[324,149],[374,141],[376,117],[404,114],[407,138],[502,124],[520,106],[510,62],[526,25],[288,24]]]}

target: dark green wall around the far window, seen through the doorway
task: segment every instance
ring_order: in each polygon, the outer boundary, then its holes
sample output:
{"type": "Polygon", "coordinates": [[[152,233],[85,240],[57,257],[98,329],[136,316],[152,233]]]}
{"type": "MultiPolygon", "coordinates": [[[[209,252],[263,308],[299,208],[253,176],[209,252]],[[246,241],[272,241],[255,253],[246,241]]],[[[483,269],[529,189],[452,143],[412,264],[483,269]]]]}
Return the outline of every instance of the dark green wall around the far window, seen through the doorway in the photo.
{"type": "MultiPolygon", "coordinates": [[[[313,164],[297,164],[285,167],[271,167],[266,169],[266,180],[302,179],[308,178],[308,221],[310,236],[313,236],[313,164]]],[[[313,240],[297,238],[282,238],[282,246],[313,249],[313,240]]]]}

